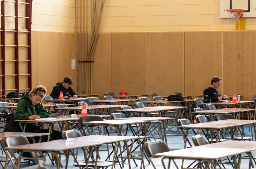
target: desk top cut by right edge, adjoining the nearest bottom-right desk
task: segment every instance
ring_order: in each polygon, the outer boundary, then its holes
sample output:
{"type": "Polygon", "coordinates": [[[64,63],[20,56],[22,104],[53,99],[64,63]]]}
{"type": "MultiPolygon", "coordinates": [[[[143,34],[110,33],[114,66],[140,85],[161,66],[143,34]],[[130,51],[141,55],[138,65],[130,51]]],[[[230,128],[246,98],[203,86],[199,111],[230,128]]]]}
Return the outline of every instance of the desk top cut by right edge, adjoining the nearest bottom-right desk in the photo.
{"type": "Polygon", "coordinates": [[[236,140],[227,140],[221,141],[212,144],[206,144],[198,147],[213,147],[213,148],[229,148],[229,149],[247,149],[249,151],[256,150],[255,141],[236,141],[236,140]]]}

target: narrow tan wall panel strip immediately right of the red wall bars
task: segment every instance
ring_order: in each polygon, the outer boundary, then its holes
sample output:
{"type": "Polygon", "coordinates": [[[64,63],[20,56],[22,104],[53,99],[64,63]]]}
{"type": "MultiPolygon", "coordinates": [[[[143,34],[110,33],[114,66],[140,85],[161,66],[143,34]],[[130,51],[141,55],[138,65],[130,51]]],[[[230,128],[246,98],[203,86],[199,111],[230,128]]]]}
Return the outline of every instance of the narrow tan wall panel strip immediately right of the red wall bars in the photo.
{"type": "MultiPolygon", "coordinates": [[[[32,88],[37,86],[38,81],[38,31],[31,31],[31,64],[32,64],[32,88]]],[[[49,93],[48,93],[49,94],[49,93]]],[[[47,95],[48,95],[47,94],[47,95]]]]}

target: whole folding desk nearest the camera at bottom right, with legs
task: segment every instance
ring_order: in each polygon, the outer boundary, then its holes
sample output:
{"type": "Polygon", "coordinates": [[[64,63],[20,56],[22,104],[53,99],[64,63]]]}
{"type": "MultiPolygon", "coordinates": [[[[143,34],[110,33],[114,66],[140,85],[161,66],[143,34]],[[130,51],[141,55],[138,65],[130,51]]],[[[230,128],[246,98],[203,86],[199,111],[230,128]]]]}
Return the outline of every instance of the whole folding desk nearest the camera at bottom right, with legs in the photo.
{"type": "MultiPolygon", "coordinates": [[[[225,141],[224,141],[225,142],[225,141]]],[[[213,165],[213,168],[216,169],[216,166],[219,166],[218,159],[228,156],[233,156],[236,159],[236,155],[240,155],[238,164],[234,160],[234,165],[236,168],[239,167],[241,161],[241,154],[249,152],[248,149],[229,149],[229,148],[213,148],[213,147],[191,147],[189,149],[180,149],[174,151],[167,151],[164,153],[155,154],[156,157],[162,158],[162,164],[165,165],[164,159],[189,159],[189,160],[199,160],[203,161],[206,164],[205,168],[210,168],[209,163],[213,165]],[[221,152],[221,153],[220,153],[221,152]]],[[[182,163],[183,167],[183,163],[182,163]]],[[[221,166],[219,166],[221,168],[221,166]]],[[[178,168],[177,168],[178,169],[178,168]]]]}

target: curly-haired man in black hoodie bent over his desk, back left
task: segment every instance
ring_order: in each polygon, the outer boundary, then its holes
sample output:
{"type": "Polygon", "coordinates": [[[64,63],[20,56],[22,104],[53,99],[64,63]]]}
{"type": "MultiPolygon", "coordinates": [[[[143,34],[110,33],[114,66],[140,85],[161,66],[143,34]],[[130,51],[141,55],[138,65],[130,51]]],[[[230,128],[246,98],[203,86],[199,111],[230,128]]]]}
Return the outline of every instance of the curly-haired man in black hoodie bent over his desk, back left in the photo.
{"type": "Polygon", "coordinates": [[[53,99],[58,99],[59,93],[62,91],[64,99],[69,98],[69,95],[71,95],[73,98],[77,98],[77,94],[74,92],[70,85],[73,85],[72,78],[65,77],[63,82],[59,82],[56,84],[56,86],[53,87],[53,91],[51,92],[50,96],[52,96],[53,99]]]}

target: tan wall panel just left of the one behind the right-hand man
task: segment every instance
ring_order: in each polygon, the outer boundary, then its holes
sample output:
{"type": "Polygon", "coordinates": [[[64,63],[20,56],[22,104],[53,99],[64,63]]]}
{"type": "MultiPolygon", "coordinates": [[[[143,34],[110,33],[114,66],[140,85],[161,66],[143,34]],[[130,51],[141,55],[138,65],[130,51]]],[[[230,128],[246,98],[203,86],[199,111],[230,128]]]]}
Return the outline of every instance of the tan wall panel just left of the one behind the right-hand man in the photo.
{"type": "Polygon", "coordinates": [[[184,93],[184,32],[148,33],[148,91],[184,93]]]}

